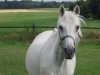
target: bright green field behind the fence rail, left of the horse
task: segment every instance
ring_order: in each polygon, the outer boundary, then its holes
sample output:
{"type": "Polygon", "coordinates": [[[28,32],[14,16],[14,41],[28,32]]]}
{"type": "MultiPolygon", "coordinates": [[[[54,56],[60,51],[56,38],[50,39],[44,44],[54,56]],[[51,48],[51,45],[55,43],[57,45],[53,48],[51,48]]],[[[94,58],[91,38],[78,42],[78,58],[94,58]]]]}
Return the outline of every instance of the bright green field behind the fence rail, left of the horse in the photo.
{"type": "Polygon", "coordinates": [[[0,13],[0,26],[56,25],[57,14],[46,13],[0,13]]]}

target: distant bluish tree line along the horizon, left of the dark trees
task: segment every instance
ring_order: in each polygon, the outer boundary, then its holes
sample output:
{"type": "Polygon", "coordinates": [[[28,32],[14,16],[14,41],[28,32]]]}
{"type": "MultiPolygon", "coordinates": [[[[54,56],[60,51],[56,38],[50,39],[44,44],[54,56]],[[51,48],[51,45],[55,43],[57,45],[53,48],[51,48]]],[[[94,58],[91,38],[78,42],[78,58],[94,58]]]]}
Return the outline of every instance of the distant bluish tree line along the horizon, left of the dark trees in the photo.
{"type": "Polygon", "coordinates": [[[61,4],[68,7],[72,2],[33,2],[31,0],[0,2],[0,9],[32,9],[32,8],[58,8],[61,4]]]}

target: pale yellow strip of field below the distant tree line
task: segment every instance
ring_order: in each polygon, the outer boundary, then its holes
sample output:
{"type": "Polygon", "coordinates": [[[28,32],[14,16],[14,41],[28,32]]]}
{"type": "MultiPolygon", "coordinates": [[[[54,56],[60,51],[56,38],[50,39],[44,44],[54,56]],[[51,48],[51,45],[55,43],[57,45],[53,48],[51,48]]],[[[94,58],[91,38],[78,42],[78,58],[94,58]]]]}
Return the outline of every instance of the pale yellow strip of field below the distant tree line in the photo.
{"type": "Polygon", "coordinates": [[[28,10],[28,9],[4,9],[4,10],[0,10],[0,13],[16,13],[16,12],[57,12],[54,10],[28,10]]]}

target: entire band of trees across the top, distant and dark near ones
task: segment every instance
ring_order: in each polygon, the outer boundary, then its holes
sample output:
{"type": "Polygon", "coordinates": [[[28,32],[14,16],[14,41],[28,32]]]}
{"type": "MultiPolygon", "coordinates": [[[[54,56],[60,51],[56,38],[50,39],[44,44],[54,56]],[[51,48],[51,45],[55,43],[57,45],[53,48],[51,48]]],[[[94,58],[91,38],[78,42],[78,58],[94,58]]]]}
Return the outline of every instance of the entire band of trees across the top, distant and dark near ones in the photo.
{"type": "Polygon", "coordinates": [[[73,10],[75,5],[79,5],[81,8],[81,15],[86,18],[100,19],[100,0],[77,0],[76,2],[33,2],[32,0],[13,0],[0,2],[0,9],[33,9],[33,8],[59,8],[61,4],[64,4],[66,8],[73,10]]]}

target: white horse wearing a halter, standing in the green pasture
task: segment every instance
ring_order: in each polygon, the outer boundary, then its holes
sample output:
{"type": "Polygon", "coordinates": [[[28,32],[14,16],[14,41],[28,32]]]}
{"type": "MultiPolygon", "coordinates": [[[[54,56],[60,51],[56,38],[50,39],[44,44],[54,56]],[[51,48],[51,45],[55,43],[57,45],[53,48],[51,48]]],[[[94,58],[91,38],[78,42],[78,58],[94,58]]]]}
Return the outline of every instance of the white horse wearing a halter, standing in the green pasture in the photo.
{"type": "Polygon", "coordinates": [[[75,47],[81,38],[80,8],[73,12],[60,7],[57,29],[39,34],[29,47],[26,68],[29,75],[73,75],[75,47]]]}

